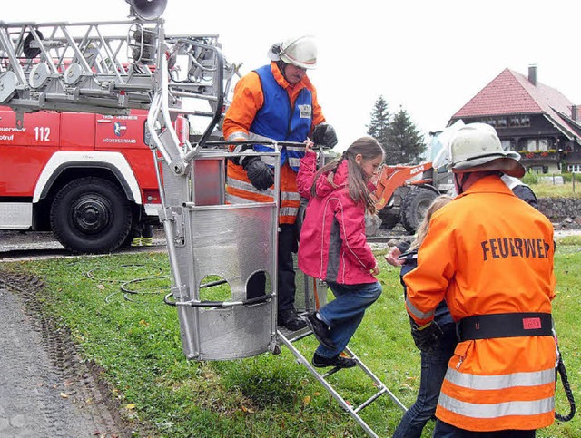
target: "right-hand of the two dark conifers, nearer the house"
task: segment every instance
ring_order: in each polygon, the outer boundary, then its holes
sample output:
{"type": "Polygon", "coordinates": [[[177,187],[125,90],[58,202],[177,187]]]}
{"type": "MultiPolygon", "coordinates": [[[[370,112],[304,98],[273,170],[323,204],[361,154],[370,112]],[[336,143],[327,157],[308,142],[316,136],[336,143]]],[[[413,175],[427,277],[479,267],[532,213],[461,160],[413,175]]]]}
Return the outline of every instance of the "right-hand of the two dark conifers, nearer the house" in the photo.
{"type": "Polygon", "coordinates": [[[419,161],[422,153],[426,151],[424,136],[401,106],[389,123],[386,145],[388,164],[419,161]]]}

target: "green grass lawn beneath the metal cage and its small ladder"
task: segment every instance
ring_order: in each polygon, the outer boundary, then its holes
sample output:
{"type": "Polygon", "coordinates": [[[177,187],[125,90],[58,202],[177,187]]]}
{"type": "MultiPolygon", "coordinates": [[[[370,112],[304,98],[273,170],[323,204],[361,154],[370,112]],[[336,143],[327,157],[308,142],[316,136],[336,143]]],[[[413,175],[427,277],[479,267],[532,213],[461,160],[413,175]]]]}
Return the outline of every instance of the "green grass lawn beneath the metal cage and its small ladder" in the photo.
{"type": "MultiPolygon", "coordinates": [[[[350,347],[409,406],[419,386],[419,352],[409,336],[399,269],[389,267],[382,258],[380,263],[384,292],[369,308],[350,347]]],[[[68,327],[86,360],[103,368],[103,377],[113,388],[111,395],[121,401],[123,415],[135,423],[138,436],[366,436],[284,347],[281,355],[187,361],[175,307],[162,300],[169,287],[169,265],[163,253],[4,263],[0,269],[44,279],[38,299],[45,312],[68,327]],[[123,292],[121,286],[131,280],[123,292]]],[[[556,328],[578,398],[579,238],[558,242],[556,276],[556,328]]],[[[316,346],[312,336],[298,344],[310,359],[316,346]]],[[[360,404],[375,393],[359,370],[342,371],[330,381],[351,404],[360,404]]],[[[568,413],[560,383],[557,411],[568,413]]],[[[382,437],[393,433],[401,415],[387,395],[361,413],[382,437]]],[[[432,429],[430,422],[423,436],[431,436],[432,429]]],[[[579,431],[577,415],[537,436],[578,437],[579,431]]]]}

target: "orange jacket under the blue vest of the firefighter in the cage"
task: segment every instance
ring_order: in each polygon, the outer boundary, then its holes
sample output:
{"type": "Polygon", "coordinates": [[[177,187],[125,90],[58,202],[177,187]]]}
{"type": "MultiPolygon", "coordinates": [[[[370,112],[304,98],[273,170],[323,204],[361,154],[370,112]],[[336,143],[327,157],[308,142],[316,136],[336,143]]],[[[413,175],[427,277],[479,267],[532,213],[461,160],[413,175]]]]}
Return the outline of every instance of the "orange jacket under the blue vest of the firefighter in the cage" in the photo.
{"type": "MultiPolygon", "coordinates": [[[[317,92],[305,75],[300,83],[291,85],[284,79],[276,63],[271,63],[271,72],[276,82],[289,94],[291,105],[294,105],[300,90],[308,88],[312,94],[312,120],[315,126],[325,122],[325,118],[317,101],[317,92]]],[[[222,131],[226,140],[252,140],[250,131],[256,113],[264,104],[261,80],[258,73],[246,74],[234,87],[234,97],[226,112],[222,131]]],[[[312,128],[311,128],[312,129],[312,128]]],[[[284,139],[273,139],[284,140],[284,139]]],[[[304,139],[306,140],[306,139],[304,139]]],[[[233,150],[233,148],[231,148],[233,150]]],[[[297,173],[291,169],[286,161],[281,166],[281,209],[279,210],[279,222],[281,224],[295,223],[300,207],[300,196],[296,183],[297,173]]],[[[233,161],[228,162],[226,201],[232,204],[243,202],[272,202],[274,186],[267,190],[257,190],[252,186],[246,175],[246,171],[233,161]]]]}

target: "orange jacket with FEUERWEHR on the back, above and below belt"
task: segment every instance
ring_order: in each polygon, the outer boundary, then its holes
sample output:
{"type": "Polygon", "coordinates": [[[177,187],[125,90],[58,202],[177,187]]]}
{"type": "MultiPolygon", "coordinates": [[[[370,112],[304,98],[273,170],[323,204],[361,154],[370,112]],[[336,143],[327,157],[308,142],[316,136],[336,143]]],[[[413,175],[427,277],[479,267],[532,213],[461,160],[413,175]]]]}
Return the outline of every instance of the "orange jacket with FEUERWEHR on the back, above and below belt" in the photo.
{"type": "MultiPolygon", "coordinates": [[[[419,326],[446,298],[452,317],[551,313],[553,227],[497,176],[477,180],[439,209],[404,276],[419,326]]],[[[468,431],[532,430],[554,421],[556,342],[518,336],[458,343],[436,416],[468,431]]]]}

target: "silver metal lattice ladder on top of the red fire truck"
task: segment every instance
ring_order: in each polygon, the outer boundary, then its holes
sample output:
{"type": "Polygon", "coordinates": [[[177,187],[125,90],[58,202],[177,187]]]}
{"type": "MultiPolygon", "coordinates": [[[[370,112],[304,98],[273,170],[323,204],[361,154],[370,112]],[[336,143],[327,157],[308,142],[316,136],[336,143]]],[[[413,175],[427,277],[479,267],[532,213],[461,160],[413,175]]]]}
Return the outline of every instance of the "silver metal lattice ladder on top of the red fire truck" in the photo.
{"type": "Polygon", "coordinates": [[[210,120],[203,143],[220,121],[236,73],[223,59],[217,35],[166,35],[161,18],[0,22],[0,104],[15,110],[17,123],[24,112],[42,110],[127,115],[149,109],[164,93],[166,111],[156,129],[171,125],[178,112],[202,117],[210,120]],[[163,85],[162,68],[168,75],[163,85]]]}

